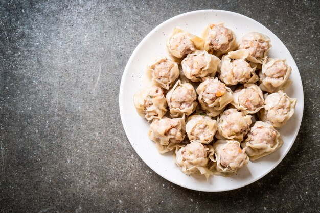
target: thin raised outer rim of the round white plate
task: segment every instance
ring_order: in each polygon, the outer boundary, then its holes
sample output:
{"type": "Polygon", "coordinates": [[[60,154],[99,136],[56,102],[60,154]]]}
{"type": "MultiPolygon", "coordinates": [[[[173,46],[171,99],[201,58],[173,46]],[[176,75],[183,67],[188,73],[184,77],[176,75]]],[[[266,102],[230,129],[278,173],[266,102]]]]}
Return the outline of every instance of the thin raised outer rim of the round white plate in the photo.
{"type": "MultiPolygon", "coordinates": [[[[124,78],[125,78],[125,76],[128,74],[129,66],[130,66],[130,64],[131,64],[131,61],[132,61],[132,59],[133,59],[133,56],[134,56],[135,53],[140,49],[140,47],[143,45],[144,41],[147,40],[154,31],[157,31],[159,28],[161,28],[163,25],[165,25],[165,24],[168,23],[169,21],[171,21],[171,20],[173,20],[173,19],[176,19],[176,18],[178,18],[178,17],[182,17],[182,16],[186,16],[186,15],[192,14],[192,13],[205,13],[205,12],[208,12],[208,13],[211,13],[211,12],[220,12],[220,13],[229,13],[229,14],[232,13],[233,15],[239,15],[239,16],[242,16],[243,18],[250,19],[250,20],[256,22],[257,24],[260,24],[260,25],[264,26],[264,28],[267,29],[267,31],[268,31],[270,34],[272,34],[273,36],[276,36],[276,37],[280,40],[280,42],[284,45],[284,43],[282,42],[282,40],[281,40],[276,34],[274,34],[272,31],[270,31],[270,30],[269,30],[265,25],[263,25],[262,23],[254,20],[254,19],[252,19],[252,18],[250,18],[250,17],[248,17],[248,16],[242,15],[242,14],[240,14],[240,13],[236,13],[236,12],[232,12],[232,11],[227,11],[227,10],[205,9],[205,10],[190,11],[190,12],[186,12],[186,13],[182,13],[182,14],[173,16],[173,17],[165,20],[164,22],[158,24],[158,25],[155,26],[155,28],[153,28],[153,29],[140,41],[140,43],[135,47],[135,49],[133,50],[130,58],[128,59],[128,62],[127,62],[127,64],[126,64],[126,66],[125,66],[124,72],[123,72],[122,77],[121,77],[120,90],[119,90],[119,110],[120,110],[120,117],[121,117],[121,123],[122,123],[123,129],[124,129],[124,131],[125,131],[126,137],[127,137],[128,141],[130,142],[130,145],[131,145],[131,146],[132,146],[132,143],[131,143],[131,141],[130,141],[130,139],[129,139],[129,136],[128,136],[128,135],[129,135],[129,133],[128,133],[129,130],[125,128],[125,125],[124,125],[124,122],[123,122],[123,118],[124,118],[124,107],[123,107],[123,104],[121,103],[121,99],[123,99],[123,96],[124,96],[124,83],[123,83],[123,82],[125,81],[124,78]]],[[[301,86],[301,88],[303,89],[302,78],[301,78],[301,75],[300,75],[300,71],[299,71],[299,69],[298,69],[298,66],[296,65],[295,60],[294,60],[294,58],[292,57],[291,52],[289,51],[289,49],[287,48],[287,46],[284,45],[284,47],[288,50],[291,58],[292,58],[293,61],[294,61],[294,66],[295,66],[295,68],[298,70],[298,73],[299,73],[299,78],[300,78],[299,84],[301,84],[300,86],[301,86]]],[[[292,67],[292,64],[291,64],[291,67],[292,67]]],[[[132,146],[132,147],[133,147],[134,151],[136,152],[136,154],[138,154],[138,156],[142,159],[142,161],[143,161],[152,171],[154,171],[156,174],[158,174],[159,176],[163,177],[163,178],[166,179],[167,181],[172,182],[172,183],[174,183],[174,184],[176,184],[176,185],[179,185],[180,187],[183,187],[183,188],[186,188],[186,189],[190,189],[190,190],[194,190],[194,191],[199,191],[199,192],[225,192],[225,191],[231,191],[231,190],[240,189],[240,188],[245,187],[246,185],[249,185],[249,184],[252,184],[252,183],[256,182],[257,180],[259,180],[259,179],[261,179],[262,177],[264,177],[264,176],[266,176],[267,174],[269,174],[273,169],[275,169],[275,168],[283,161],[283,159],[285,158],[285,156],[287,156],[288,152],[290,151],[292,145],[293,145],[294,142],[295,142],[296,137],[297,137],[298,134],[299,134],[300,127],[301,127],[301,123],[302,123],[302,120],[303,120],[303,114],[304,114],[304,92],[303,92],[303,91],[302,91],[302,98],[301,98],[301,99],[302,99],[302,100],[299,100],[299,101],[302,102],[302,114],[301,114],[301,119],[298,119],[298,122],[299,122],[298,127],[299,127],[299,128],[298,128],[298,131],[295,131],[295,133],[294,133],[293,143],[291,143],[291,145],[288,146],[288,149],[284,152],[284,154],[278,159],[278,161],[277,161],[270,169],[268,169],[267,171],[265,171],[263,174],[260,174],[260,175],[258,175],[257,177],[253,178],[252,180],[250,180],[250,181],[248,181],[248,182],[245,182],[245,183],[243,183],[243,184],[240,184],[240,185],[238,185],[238,186],[236,186],[236,187],[230,188],[230,189],[225,189],[225,190],[212,190],[212,189],[211,189],[211,190],[210,190],[210,189],[208,189],[208,190],[199,190],[199,189],[192,188],[192,187],[191,187],[191,188],[190,188],[190,187],[186,187],[186,185],[180,184],[179,181],[169,180],[169,179],[167,179],[166,177],[164,177],[164,175],[159,174],[157,171],[155,171],[154,169],[152,169],[152,167],[150,166],[151,164],[148,163],[148,162],[146,162],[146,161],[143,159],[143,157],[141,157],[141,155],[139,154],[139,151],[137,151],[134,146],[132,146]]]]}

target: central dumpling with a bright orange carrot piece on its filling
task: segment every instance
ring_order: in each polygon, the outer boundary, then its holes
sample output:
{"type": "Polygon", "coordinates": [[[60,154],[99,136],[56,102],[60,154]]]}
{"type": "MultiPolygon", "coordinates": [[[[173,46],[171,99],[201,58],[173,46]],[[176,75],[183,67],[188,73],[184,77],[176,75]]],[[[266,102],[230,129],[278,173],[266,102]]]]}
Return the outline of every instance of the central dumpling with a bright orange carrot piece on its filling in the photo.
{"type": "Polygon", "coordinates": [[[204,82],[198,86],[197,93],[201,109],[212,117],[219,115],[233,100],[231,89],[218,78],[213,77],[205,78],[204,82]]]}

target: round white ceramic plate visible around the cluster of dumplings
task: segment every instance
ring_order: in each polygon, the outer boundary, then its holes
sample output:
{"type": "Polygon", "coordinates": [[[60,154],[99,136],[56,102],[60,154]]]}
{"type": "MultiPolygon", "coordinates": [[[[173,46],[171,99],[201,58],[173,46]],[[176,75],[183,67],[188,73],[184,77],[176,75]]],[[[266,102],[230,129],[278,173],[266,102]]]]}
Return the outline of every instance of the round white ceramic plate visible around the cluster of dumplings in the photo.
{"type": "Polygon", "coordinates": [[[257,21],[229,11],[200,10],[184,13],[158,25],[135,48],[124,70],[119,95],[121,120],[126,135],[134,150],[142,160],[157,174],[181,187],[197,191],[221,192],[233,190],[248,185],[275,168],[290,150],[298,134],[303,114],[303,88],[299,70],[280,39],[257,21]],[[213,176],[206,180],[202,176],[188,176],[182,173],[173,163],[172,153],[161,155],[155,143],[148,138],[149,124],[136,113],[132,97],[144,87],[142,82],[148,62],[157,56],[167,55],[165,42],[178,26],[192,34],[201,36],[205,25],[215,22],[225,22],[225,25],[235,32],[237,40],[248,32],[257,31],[270,37],[272,48],[268,56],[285,58],[292,67],[290,78],[292,85],[286,92],[290,97],[298,99],[295,113],[288,123],[280,129],[284,140],[283,146],[276,152],[249,162],[237,175],[232,177],[213,176]]]}

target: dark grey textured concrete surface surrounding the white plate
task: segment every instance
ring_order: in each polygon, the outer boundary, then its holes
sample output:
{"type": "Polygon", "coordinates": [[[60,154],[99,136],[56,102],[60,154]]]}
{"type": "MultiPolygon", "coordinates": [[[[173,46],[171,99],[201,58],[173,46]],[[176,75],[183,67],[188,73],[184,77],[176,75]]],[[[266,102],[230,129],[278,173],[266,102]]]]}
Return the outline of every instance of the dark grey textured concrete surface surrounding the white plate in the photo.
{"type": "Polygon", "coordinates": [[[319,1],[0,3],[2,212],[320,210],[319,1]],[[155,26],[221,9],[264,24],[288,47],[304,85],[292,149],[242,189],[202,193],[155,174],[127,140],[118,94],[127,60],[155,26]]]}

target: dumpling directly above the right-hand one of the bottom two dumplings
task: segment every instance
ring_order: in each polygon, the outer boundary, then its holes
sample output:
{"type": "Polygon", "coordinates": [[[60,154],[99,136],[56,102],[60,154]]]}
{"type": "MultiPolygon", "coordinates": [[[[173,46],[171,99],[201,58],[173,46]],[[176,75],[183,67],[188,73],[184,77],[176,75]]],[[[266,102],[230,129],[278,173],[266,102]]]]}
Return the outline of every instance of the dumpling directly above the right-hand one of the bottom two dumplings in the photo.
{"type": "Polygon", "coordinates": [[[251,118],[252,116],[245,115],[243,112],[237,111],[237,109],[227,109],[217,119],[218,131],[216,138],[243,141],[243,137],[250,129],[251,118]]]}

